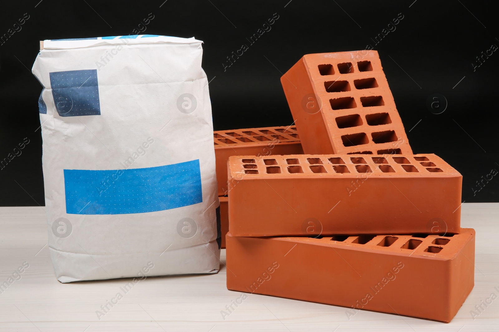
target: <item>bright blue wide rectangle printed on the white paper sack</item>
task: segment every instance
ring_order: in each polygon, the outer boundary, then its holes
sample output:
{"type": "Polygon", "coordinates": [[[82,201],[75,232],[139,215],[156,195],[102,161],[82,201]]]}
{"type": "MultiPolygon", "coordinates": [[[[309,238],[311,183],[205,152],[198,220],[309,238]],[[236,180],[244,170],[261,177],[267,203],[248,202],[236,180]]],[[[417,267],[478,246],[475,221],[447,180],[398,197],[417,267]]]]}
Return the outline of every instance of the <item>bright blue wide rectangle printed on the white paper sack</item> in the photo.
{"type": "Polygon", "coordinates": [[[199,159],[119,170],[64,170],[66,213],[121,215],[203,202],[199,159]]]}

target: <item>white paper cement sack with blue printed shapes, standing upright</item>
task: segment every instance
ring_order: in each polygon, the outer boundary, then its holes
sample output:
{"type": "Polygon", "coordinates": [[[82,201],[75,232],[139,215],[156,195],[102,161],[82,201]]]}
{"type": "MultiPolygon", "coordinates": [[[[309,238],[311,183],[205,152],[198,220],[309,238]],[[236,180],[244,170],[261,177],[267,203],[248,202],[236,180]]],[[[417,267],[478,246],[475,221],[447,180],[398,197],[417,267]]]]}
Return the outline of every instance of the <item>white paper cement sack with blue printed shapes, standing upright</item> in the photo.
{"type": "Polygon", "coordinates": [[[61,282],[216,273],[220,224],[201,41],[45,40],[38,101],[61,282]]]}

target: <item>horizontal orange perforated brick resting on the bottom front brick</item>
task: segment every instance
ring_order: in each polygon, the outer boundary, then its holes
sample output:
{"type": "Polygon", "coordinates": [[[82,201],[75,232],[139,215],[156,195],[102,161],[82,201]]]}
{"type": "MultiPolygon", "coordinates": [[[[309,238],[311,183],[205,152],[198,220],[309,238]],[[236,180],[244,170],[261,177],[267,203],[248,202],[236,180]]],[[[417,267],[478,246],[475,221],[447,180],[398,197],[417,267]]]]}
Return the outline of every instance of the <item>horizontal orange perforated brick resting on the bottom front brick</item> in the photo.
{"type": "Polygon", "coordinates": [[[457,233],[461,174],[434,154],[229,158],[233,236],[457,233]]]}

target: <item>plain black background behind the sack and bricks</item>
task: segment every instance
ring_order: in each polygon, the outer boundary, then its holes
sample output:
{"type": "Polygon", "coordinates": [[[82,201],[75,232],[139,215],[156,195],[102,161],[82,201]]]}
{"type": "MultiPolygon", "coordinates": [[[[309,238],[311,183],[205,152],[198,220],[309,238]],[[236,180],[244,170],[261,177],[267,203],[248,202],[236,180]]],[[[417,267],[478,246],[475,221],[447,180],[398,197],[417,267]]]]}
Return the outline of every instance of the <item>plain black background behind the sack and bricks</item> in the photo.
{"type": "Polygon", "coordinates": [[[291,124],[283,73],[304,54],[373,45],[413,151],[435,153],[460,171],[466,202],[498,202],[499,175],[480,191],[476,182],[499,170],[499,51],[473,66],[499,46],[493,1],[163,1],[2,2],[0,36],[24,13],[29,19],[0,45],[0,160],[25,137],[29,143],[0,170],[0,206],[44,205],[41,86],[30,73],[38,41],[132,34],[149,13],[154,19],[141,33],[204,41],[215,130],[291,124]],[[274,13],[271,30],[249,45],[246,38],[274,13]],[[375,45],[371,38],[399,13],[396,30],[375,45]],[[224,70],[242,44],[249,49],[224,70]],[[448,102],[441,114],[426,106],[433,94],[448,102]]]}

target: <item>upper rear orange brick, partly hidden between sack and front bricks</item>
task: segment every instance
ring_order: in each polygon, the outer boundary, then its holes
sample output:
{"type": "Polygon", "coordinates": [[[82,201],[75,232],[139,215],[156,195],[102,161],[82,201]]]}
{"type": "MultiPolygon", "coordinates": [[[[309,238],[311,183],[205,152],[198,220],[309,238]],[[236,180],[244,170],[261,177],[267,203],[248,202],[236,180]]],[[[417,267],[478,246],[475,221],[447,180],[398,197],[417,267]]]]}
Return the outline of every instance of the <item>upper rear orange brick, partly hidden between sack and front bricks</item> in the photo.
{"type": "Polygon", "coordinates": [[[294,126],[214,131],[218,195],[227,196],[227,160],[234,155],[300,154],[294,126]]]}

